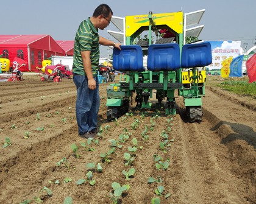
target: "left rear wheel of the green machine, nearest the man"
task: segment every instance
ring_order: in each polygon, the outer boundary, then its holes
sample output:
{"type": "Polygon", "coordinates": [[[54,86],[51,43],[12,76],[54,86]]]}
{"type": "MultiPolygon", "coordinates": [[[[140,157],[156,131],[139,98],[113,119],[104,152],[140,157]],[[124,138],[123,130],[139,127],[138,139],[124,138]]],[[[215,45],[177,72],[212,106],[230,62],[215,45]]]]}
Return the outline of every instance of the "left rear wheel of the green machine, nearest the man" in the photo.
{"type": "Polygon", "coordinates": [[[107,107],[107,120],[115,121],[116,118],[123,116],[129,111],[129,100],[123,100],[123,105],[120,107],[107,107]]]}

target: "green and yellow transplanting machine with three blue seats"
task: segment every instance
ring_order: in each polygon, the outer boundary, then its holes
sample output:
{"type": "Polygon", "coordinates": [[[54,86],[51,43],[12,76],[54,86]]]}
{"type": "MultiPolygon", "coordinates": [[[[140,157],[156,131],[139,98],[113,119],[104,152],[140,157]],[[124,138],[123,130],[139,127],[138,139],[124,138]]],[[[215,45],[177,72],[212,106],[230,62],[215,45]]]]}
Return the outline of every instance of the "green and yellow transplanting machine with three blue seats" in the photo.
{"type": "Polygon", "coordinates": [[[121,51],[113,49],[113,69],[124,72],[126,81],[107,86],[109,121],[129,111],[133,94],[137,108],[151,108],[154,93],[158,102],[155,108],[176,114],[176,91],[184,99],[190,122],[202,121],[204,67],[212,63],[212,49],[209,42],[185,44],[183,21],[182,12],[126,16],[126,45],[121,46],[121,51]],[[169,30],[175,37],[158,38],[160,29],[169,30]],[[147,30],[148,39],[138,41],[138,36],[147,30]]]}

